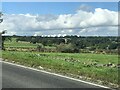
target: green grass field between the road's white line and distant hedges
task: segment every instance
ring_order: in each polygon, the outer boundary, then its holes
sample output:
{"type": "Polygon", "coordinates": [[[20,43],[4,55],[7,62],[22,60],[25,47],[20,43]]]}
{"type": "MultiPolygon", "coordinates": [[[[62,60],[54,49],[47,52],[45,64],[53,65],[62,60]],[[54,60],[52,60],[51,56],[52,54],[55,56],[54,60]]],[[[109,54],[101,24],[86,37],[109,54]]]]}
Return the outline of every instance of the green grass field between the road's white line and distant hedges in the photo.
{"type": "Polygon", "coordinates": [[[91,65],[91,63],[118,64],[117,55],[3,51],[2,58],[30,67],[43,67],[57,73],[73,74],[89,77],[93,80],[101,80],[103,84],[118,84],[118,68],[91,65]]]}

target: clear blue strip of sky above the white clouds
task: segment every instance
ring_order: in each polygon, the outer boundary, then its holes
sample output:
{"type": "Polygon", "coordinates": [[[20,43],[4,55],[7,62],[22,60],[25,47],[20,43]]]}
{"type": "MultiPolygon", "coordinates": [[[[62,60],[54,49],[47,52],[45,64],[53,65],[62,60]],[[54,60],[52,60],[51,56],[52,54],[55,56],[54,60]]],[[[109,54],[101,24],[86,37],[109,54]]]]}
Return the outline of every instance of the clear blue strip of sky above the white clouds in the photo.
{"type": "Polygon", "coordinates": [[[3,2],[3,12],[7,14],[72,14],[86,4],[94,10],[95,8],[117,11],[117,2],[3,2]]]}

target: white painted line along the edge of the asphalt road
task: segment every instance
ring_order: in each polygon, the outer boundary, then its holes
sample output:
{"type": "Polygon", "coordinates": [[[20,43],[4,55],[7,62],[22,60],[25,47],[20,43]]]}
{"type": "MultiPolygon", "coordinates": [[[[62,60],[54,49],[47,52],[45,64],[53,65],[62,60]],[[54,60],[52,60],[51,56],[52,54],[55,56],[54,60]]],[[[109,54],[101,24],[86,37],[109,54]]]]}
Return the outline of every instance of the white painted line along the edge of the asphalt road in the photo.
{"type": "Polygon", "coordinates": [[[47,73],[47,74],[51,74],[51,75],[55,75],[55,76],[59,76],[59,77],[67,78],[67,79],[71,79],[71,80],[74,80],[74,81],[83,82],[83,83],[94,85],[94,86],[98,86],[98,87],[101,87],[101,88],[110,89],[109,87],[106,87],[106,86],[94,84],[94,83],[91,83],[91,82],[86,82],[86,81],[83,81],[83,80],[79,80],[79,79],[63,76],[63,75],[56,74],[56,73],[47,72],[47,71],[44,71],[44,70],[38,70],[38,69],[35,69],[35,68],[31,68],[31,67],[27,67],[27,66],[23,66],[23,65],[18,65],[18,64],[6,62],[6,61],[0,61],[0,62],[7,63],[7,64],[14,65],[14,66],[18,66],[18,67],[22,67],[22,68],[25,68],[25,69],[30,69],[30,70],[34,70],[34,71],[38,71],[38,72],[43,72],[43,73],[47,73]]]}

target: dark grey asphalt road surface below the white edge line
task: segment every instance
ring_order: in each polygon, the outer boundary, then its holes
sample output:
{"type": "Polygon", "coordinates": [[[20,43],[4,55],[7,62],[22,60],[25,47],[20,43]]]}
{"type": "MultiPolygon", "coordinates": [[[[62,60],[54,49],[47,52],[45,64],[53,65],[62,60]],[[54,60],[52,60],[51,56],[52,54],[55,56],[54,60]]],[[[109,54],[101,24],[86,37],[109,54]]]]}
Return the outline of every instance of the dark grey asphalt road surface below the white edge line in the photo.
{"type": "Polygon", "coordinates": [[[101,88],[91,84],[2,63],[3,88],[101,88]]]}

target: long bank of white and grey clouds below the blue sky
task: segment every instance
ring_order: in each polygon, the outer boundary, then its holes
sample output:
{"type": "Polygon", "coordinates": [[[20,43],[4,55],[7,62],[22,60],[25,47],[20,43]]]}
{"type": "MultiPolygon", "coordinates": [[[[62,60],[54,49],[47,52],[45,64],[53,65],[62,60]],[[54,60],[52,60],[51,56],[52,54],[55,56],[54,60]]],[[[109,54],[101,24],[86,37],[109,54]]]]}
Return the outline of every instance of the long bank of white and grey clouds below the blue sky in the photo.
{"type": "Polygon", "coordinates": [[[94,12],[88,12],[79,9],[75,14],[11,14],[4,15],[3,18],[4,22],[0,24],[0,30],[7,29],[7,34],[9,35],[17,34],[60,36],[67,34],[104,35],[106,33],[108,33],[109,35],[117,35],[118,31],[116,27],[112,27],[118,25],[118,13],[101,8],[96,8],[94,12]],[[57,28],[62,29],[76,27],[80,27],[81,29],[57,30],[57,28]]]}

